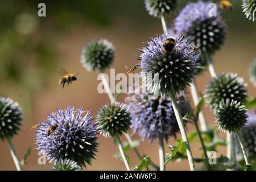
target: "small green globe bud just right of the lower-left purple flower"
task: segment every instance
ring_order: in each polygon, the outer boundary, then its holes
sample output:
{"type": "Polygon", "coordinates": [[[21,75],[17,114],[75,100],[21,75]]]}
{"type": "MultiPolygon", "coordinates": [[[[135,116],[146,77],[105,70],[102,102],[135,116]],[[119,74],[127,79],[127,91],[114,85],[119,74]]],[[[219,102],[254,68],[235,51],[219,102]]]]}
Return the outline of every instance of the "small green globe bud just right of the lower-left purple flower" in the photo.
{"type": "Polygon", "coordinates": [[[127,133],[131,125],[131,117],[124,104],[114,102],[101,107],[97,114],[99,129],[105,137],[119,137],[127,133]]]}

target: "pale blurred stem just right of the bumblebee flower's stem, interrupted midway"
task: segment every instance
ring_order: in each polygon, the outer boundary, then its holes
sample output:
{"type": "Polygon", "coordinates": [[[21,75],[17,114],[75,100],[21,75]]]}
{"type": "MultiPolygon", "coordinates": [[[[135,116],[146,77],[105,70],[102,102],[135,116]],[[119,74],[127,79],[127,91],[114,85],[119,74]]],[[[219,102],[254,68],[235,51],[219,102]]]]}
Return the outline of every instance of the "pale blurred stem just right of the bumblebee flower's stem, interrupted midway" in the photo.
{"type": "MultiPolygon", "coordinates": [[[[197,106],[197,104],[199,102],[199,96],[197,94],[195,80],[192,82],[190,89],[191,89],[193,102],[194,102],[195,106],[197,106]]],[[[203,111],[200,111],[200,113],[199,113],[199,121],[200,121],[201,130],[207,131],[207,122],[205,121],[203,111]]]]}

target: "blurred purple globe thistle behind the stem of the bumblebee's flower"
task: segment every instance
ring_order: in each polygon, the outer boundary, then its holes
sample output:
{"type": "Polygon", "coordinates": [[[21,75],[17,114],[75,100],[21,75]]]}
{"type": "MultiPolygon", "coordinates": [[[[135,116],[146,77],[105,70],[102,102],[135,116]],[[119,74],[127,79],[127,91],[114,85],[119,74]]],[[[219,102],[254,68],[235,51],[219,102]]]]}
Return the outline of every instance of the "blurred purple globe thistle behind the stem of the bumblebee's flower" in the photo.
{"type": "MultiPolygon", "coordinates": [[[[148,100],[147,93],[128,94],[126,103],[131,112],[132,127],[134,133],[144,140],[148,138],[151,142],[154,139],[176,137],[179,126],[172,108],[170,97],[159,97],[156,100],[148,100]]],[[[181,115],[184,117],[190,109],[187,94],[183,93],[177,97],[181,115]]]]}

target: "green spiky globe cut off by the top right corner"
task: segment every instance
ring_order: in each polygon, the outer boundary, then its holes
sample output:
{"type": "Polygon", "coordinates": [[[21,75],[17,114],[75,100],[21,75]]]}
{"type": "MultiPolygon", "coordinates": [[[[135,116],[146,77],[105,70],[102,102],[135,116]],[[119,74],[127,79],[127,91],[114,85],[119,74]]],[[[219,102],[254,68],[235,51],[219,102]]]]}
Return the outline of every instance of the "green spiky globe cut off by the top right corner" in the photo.
{"type": "Polygon", "coordinates": [[[256,1],[255,0],[243,0],[242,1],[243,13],[249,20],[255,20],[256,17],[256,1]]]}

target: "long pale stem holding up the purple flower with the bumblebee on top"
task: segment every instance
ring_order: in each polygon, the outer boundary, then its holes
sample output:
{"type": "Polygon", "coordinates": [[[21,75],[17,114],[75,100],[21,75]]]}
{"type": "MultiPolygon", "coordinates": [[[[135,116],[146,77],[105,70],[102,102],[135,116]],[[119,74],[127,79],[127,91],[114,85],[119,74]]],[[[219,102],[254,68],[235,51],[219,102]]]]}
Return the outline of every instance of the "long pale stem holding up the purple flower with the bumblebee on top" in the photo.
{"type": "Polygon", "coordinates": [[[170,97],[171,97],[171,101],[172,101],[172,107],[174,108],[175,117],[177,119],[177,123],[180,128],[180,133],[181,133],[182,139],[187,146],[187,156],[188,156],[188,162],[189,162],[190,169],[191,169],[191,171],[196,171],[195,164],[193,162],[191,148],[190,148],[190,145],[188,142],[187,133],[185,131],[185,126],[183,123],[183,118],[181,117],[179,107],[177,106],[176,95],[172,89],[170,90],[170,97]]]}

